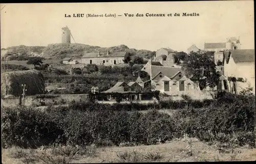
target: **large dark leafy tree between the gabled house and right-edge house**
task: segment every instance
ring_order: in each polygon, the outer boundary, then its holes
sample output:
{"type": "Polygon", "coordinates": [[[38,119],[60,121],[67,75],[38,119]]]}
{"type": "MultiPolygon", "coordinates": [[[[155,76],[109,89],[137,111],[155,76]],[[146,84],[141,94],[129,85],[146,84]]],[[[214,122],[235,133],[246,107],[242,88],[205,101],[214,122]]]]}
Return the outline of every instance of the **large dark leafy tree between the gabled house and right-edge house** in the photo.
{"type": "Polygon", "coordinates": [[[197,82],[200,90],[206,86],[213,88],[219,84],[219,74],[212,56],[212,52],[192,52],[184,60],[182,69],[185,71],[185,75],[192,76],[191,80],[197,82]]]}

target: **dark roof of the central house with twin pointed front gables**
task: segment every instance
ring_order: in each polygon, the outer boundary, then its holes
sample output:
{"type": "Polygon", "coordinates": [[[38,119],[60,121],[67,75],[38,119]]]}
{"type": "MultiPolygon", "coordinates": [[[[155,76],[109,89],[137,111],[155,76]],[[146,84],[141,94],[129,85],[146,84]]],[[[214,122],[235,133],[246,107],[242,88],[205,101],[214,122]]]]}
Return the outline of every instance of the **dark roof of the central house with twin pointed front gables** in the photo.
{"type": "Polygon", "coordinates": [[[151,75],[152,75],[152,77],[155,77],[157,74],[159,74],[159,72],[161,72],[165,76],[171,78],[179,71],[182,72],[182,69],[181,68],[175,68],[175,67],[151,66],[151,75]]]}

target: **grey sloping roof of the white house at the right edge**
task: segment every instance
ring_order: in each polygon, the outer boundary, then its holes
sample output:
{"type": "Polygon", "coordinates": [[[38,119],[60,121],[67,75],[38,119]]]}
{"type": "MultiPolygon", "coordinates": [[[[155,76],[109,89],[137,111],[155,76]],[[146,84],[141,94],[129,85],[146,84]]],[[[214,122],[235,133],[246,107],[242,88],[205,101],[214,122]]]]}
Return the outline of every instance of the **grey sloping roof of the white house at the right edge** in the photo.
{"type": "Polygon", "coordinates": [[[254,63],[254,49],[230,50],[234,63],[254,63]]]}

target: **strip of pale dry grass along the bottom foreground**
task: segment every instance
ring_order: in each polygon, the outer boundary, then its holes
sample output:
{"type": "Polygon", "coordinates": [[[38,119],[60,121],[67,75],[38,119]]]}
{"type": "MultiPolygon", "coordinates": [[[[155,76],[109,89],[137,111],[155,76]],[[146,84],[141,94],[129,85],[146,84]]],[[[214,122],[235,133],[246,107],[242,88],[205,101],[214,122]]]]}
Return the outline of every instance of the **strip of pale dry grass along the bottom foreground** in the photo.
{"type": "Polygon", "coordinates": [[[99,163],[99,162],[176,162],[256,160],[256,149],[240,147],[220,153],[215,145],[190,139],[192,155],[187,154],[187,140],[167,144],[132,147],[72,147],[52,145],[35,150],[12,147],[3,149],[3,163],[99,163]],[[231,153],[233,150],[233,153],[231,153]],[[240,152],[240,153],[239,153],[240,152]]]}

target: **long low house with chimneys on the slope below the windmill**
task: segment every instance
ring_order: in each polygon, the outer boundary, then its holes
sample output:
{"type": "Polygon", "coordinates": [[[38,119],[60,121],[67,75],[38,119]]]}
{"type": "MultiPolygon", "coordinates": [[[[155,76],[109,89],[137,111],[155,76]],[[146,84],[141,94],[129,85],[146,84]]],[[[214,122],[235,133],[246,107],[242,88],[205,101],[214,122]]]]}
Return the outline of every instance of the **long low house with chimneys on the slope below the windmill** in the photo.
{"type": "Polygon", "coordinates": [[[105,65],[113,66],[116,64],[123,64],[124,56],[127,52],[109,52],[106,53],[87,53],[84,52],[84,55],[81,58],[81,63],[84,64],[96,64],[96,65],[105,65]]]}

